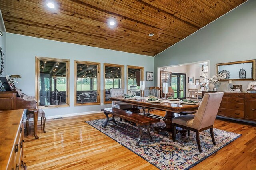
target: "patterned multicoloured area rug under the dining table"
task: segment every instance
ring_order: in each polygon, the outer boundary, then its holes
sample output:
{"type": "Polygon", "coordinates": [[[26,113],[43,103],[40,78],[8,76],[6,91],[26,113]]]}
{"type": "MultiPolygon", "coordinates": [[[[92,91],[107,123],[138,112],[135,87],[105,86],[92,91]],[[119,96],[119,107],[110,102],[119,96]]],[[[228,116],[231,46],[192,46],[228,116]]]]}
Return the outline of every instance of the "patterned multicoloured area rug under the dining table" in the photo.
{"type": "MultiPolygon", "coordinates": [[[[119,119],[116,117],[116,120],[119,119]]],[[[114,139],[116,142],[122,144],[161,170],[190,169],[241,136],[241,134],[214,129],[216,145],[213,145],[210,130],[205,130],[200,132],[202,152],[199,152],[196,144],[195,132],[191,131],[190,136],[181,136],[180,133],[177,134],[176,142],[172,142],[172,140],[161,133],[154,134],[154,126],[164,125],[164,122],[160,120],[159,123],[155,123],[151,127],[153,142],[150,142],[148,137],[145,135],[140,142],[140,146],[136,146],[138,138],[136,134],[110,123],[108,123],[106,128],[102,128],[105,121],[106,119],[98,119],[86,121],[86,123],[114,139]]],[[[126,124],[130,125],[130,123],[126,124]]],[[[134,131],[132,128],[125,128],[134,131]]]]}

